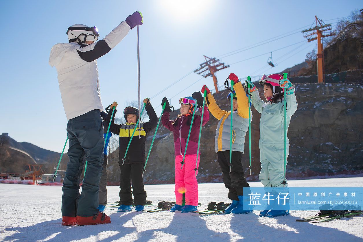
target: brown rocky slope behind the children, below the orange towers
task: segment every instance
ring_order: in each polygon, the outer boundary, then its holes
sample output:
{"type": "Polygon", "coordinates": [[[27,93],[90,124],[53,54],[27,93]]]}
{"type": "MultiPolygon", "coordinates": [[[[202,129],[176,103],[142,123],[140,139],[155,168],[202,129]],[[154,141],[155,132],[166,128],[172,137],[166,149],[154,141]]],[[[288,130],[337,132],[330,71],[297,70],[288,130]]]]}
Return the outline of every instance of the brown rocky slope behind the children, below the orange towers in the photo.
{"type": "MultiPolygon", "coordinates": [[[[287,179],[314,176],[335,176],[363,172],[363,86],[359,84],[305,83],[296,85],[298,110],[291,119],[288,132],[290,156],[287,179]]],[[[226,91],[215,94],[217,103],[228,110],[226,91]]],[[[262,98],[262,93],[260,94],[262,98]]],[[[260,172],[259,122],[260,114],[252,108],[252,175],[248,171],[248,139],[245,143],[243,165],[248,180],[257,181],[260,172]]],[[[173,112],[176,117],[179,110],[173,112]]],[[[214,136],[218,120],[203,127],[199,182],[221,182],[221,172],[214,149],[214,136]]],[[[148,135],[146,152],[154,133],[148,135]]],[[[248,134],[246,135],[248,137],[248,134]]],[[[144,180],[146,184],[174,182],[174,140],[170,131],[159,127],[144,180]]],[[[110,155],[109,180],[119,181],[118,150],[110,155]]]]}

